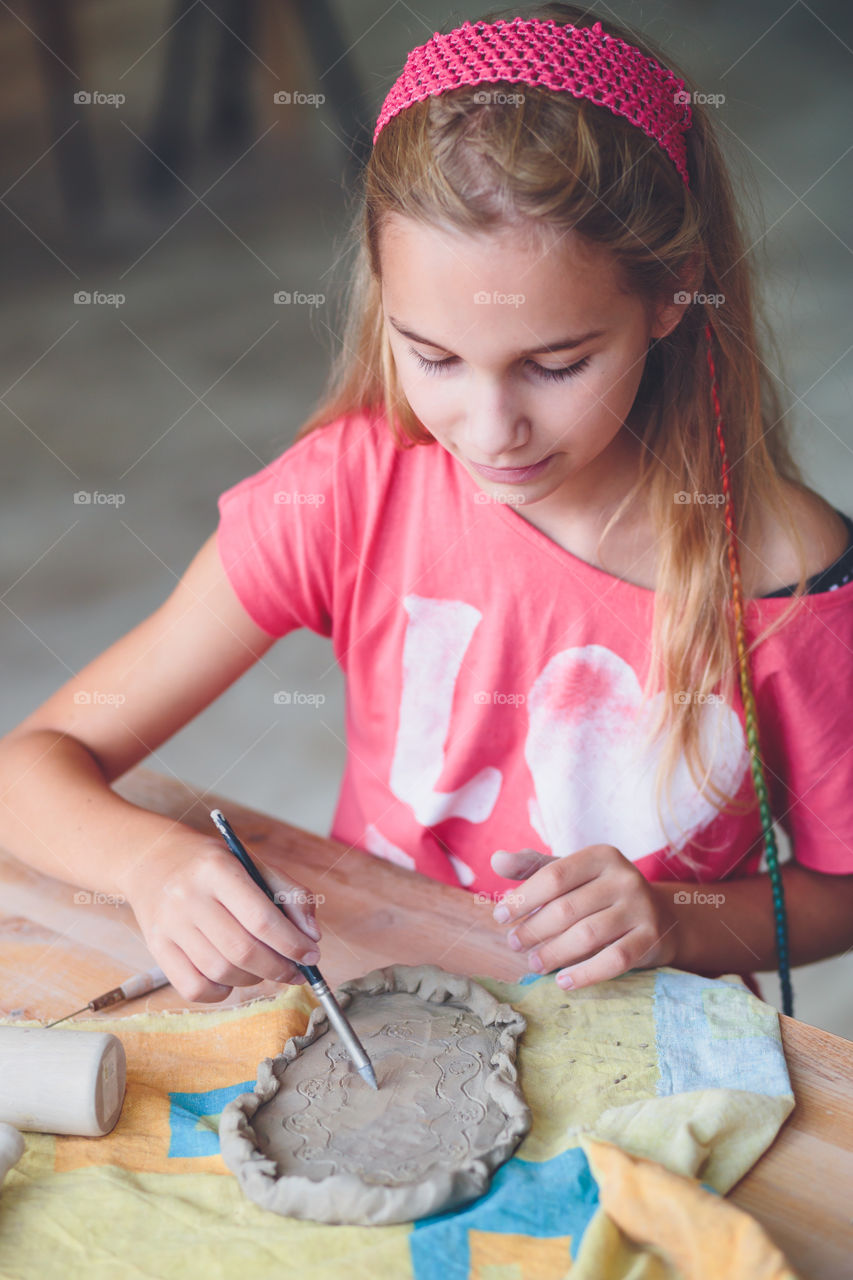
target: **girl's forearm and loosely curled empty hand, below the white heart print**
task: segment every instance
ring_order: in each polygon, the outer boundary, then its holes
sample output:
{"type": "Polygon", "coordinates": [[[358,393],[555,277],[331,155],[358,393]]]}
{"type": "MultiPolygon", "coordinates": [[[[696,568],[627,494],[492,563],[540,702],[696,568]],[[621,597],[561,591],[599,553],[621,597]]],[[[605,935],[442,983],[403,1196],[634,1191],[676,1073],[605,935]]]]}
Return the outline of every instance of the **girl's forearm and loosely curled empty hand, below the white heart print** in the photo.
{"type": "MultiPolygon", "coordinates": [[[[511,925],[510,946],[526,952],[533,972],[558,969],[560,986],[589,987],[657,965],[693,973],[776,968],[767,874],[708,884],[652,882],[612,845],[589,845],[567,858],[500,851],[492,867],[524,881],[494,910],[500,924],[511,925]]],[[[786,863],[781,877],[792,965],[853,946],[853,876],[786,863]]]]}

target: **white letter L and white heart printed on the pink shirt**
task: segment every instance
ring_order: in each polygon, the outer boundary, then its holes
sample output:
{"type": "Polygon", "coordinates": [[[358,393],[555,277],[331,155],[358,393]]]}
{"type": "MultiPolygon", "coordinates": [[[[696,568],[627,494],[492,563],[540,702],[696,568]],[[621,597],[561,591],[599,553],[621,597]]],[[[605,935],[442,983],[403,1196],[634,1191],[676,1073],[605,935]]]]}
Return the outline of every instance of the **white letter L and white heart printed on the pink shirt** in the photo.
{"type": "MultiPolygon", "coordinates": [[[[435,791],[459,672],[483,616],[464,600],[407,595],[403,605],[409,623],[391,790],[424,827],[446,818],[485,822],[501,791],[500,769],[480,769],[456,791],[435,791]]],[[[637,861],[666,846],[683,849],[716,817],[681,759],[667,820],[661,823],[653,787],[661,744],[648,748],[643,740],[657,699],[666,695],[658,694],[643,717],[634,718],[640,696],[634,669],[605,645],[564,649],[533,682],[524,751],[535,792],[529,817],[552,854],[610,844],[637,861]]],[[[730,707],[703,704],[701,751],[703,760],[713,758],[715,783],[736,791],[749,751],[730,707]]]]}

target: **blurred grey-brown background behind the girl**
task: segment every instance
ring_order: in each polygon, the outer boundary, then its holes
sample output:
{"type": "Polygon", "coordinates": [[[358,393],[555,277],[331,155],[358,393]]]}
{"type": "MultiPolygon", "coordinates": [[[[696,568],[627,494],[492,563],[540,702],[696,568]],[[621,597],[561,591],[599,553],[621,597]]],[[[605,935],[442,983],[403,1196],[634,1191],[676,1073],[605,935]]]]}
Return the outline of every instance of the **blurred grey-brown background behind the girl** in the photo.
{"type": "MultiPolygon", "coordinates": [[[[155,609],[215,527],[218,494],[291,443],[336,349],[352,184],[384,93],[412,46],[489,8],[3,4],[0,732],[155,609]]],[[[598,12],[725,96],[712,110],[799,457],[853,515],[853,10],[598,12]]],[[[342,676],[330,644],[300,631],[147,764],[327,835],[343,762],[342,676]],[[278,690],[325,701],[274,704],[278,690]]],[[[776,978],[761,984],[777,1005],[776,978]]],[[[798,1018],[853,1038],[853,956],[794,986],[798,1018]]]]}

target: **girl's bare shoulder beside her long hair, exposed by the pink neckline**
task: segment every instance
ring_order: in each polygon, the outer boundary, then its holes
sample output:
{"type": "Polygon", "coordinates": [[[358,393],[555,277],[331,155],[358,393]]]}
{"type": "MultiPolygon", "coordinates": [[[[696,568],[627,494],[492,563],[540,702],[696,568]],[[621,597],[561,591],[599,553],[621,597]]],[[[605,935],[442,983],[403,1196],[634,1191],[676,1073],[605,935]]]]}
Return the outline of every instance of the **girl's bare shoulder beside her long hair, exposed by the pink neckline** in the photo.
{"type": "Polygon", "coordinates": [[[799,556],[793,529],[799,534],[806,557],[806,577],[829,568],[850,541],[847,525],[833,504],[812,489],[783,481],[788,503],[765,508],[739,539],[740,568],[747,598],[767,595],[799,579],[799,556]]]}

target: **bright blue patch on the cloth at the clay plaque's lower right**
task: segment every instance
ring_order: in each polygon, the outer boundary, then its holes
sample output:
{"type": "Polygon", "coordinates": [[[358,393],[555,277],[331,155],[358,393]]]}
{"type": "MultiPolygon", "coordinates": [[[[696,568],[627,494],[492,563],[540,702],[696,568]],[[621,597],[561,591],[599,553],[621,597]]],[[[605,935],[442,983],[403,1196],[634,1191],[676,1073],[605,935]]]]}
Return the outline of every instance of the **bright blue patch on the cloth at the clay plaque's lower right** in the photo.
{"type": "Polygon", "coordinates": [[[598,1211],[598,1184],[579,1147],[534,1164],[517,1157],[494,1174],[484,1196],[466,1208],[414,1224],[409,1249],[415,1280],[467,1280],[467,1233],[571,1236],[571,1257],[598,1211]]]}

